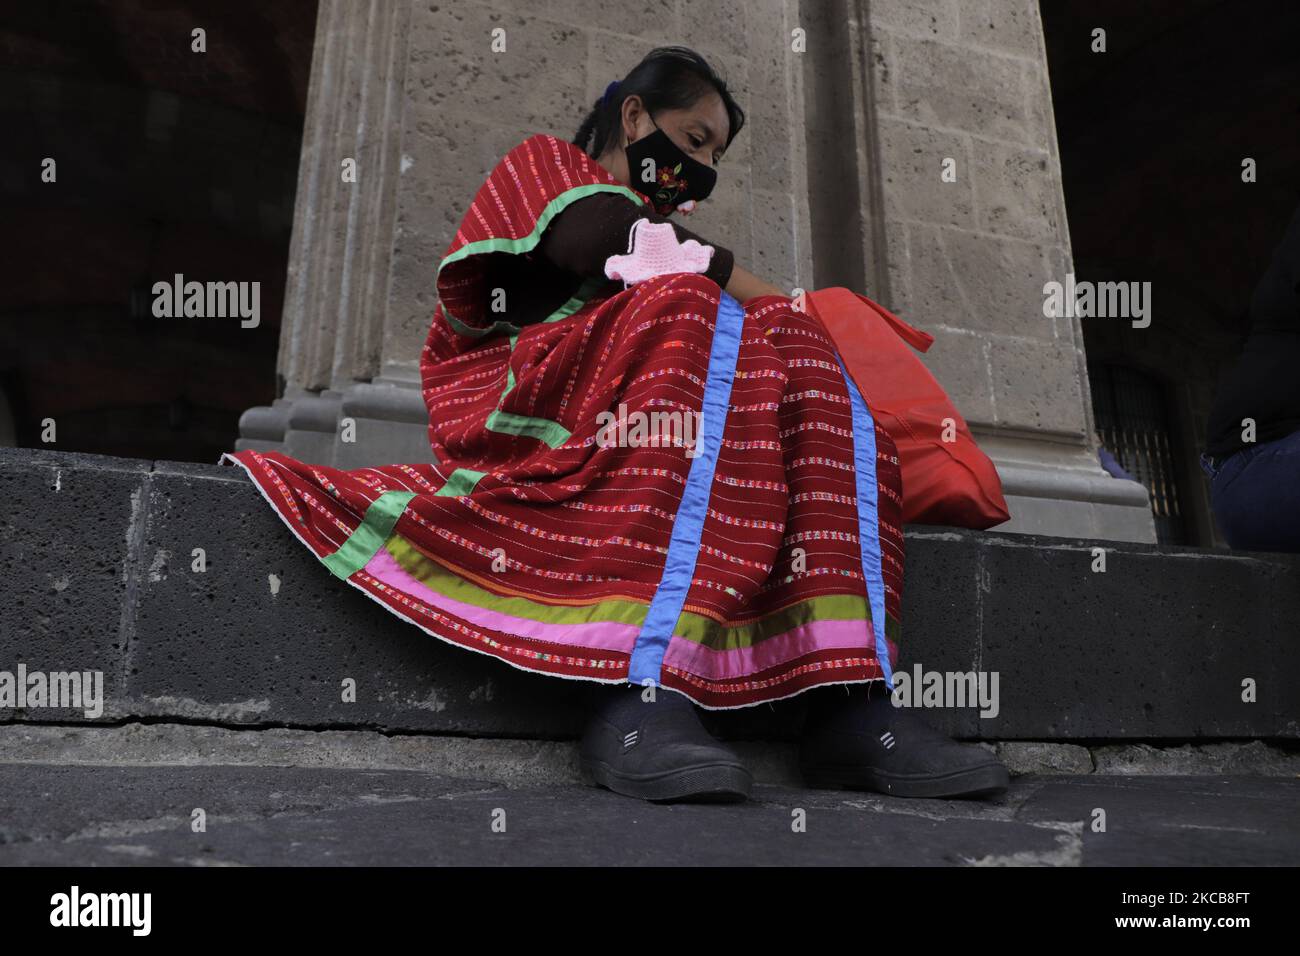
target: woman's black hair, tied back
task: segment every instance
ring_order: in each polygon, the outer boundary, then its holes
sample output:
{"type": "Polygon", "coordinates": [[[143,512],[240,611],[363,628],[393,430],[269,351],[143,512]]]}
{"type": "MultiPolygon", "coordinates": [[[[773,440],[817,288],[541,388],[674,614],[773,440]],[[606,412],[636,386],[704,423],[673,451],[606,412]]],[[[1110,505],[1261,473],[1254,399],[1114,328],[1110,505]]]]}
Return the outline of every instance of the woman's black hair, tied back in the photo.
{"type": "Polygon", "coordinates": [[[603,153],[619,129],[623,100],[628,96],[640,96],[645,108],[656,113],[660,109],[693,107],[710,91],[722,96],[723,105],[727,107],[727,146],[731,146],[745,125],[745,111],[732,98],[727,83],[696,51],[686,47],[658,47],[646,53],[608,96],[595,101],[577,127],[573,144],[593,159],[603,153]]]}

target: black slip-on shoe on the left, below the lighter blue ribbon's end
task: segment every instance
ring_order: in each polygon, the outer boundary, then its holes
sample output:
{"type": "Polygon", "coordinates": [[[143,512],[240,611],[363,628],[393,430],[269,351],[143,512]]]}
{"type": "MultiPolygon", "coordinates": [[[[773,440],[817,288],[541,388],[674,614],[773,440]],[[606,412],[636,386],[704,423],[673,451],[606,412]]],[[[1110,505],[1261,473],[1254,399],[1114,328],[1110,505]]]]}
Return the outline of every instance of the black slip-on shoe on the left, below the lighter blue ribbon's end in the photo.
{"type": "Polygon", "coordinates": [[[729,748],[699,722],[680,693],[623,685],[592,717],[578,748],[582,770],[616,793],[642,800],[734,803],[749,796],[754,780],[729,748]]]}

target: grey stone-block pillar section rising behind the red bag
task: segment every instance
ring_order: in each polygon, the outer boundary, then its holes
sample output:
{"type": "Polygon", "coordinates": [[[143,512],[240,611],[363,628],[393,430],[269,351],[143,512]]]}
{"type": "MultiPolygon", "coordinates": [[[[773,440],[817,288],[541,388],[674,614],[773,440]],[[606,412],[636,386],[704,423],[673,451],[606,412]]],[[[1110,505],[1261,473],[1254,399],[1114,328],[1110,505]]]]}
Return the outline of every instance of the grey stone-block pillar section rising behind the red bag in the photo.
{"type": "Polygon", "coordinates": [[[803,16],[816,285],[935,336],[923,360],[1002,479],[998,531],[1154,541],[1145,489],[1097,462],[1079,320],[1043,313],[1071,255],[1036,0],[803,16]]]}

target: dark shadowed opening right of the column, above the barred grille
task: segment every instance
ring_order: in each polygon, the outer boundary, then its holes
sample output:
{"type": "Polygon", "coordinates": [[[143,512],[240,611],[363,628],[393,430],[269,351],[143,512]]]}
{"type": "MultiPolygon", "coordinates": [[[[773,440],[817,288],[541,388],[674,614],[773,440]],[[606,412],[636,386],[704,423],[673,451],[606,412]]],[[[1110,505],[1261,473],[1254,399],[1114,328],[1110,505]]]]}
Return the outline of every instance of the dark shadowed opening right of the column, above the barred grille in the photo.
{"type": "Polygon", "coordinates": [[[1290,0],[1040,8],[1075,276],[1152,284],[1149,326],[1083,320],[1098,425],[1154,414],[1134,369],[1158,381],[1173,455],[1161,467],[1183,512],[1179,525],[1157,510],[1157,525],[1222,546],[1196,459],[1251,293],[1300,200],[1300,16],[1290,0]]]}

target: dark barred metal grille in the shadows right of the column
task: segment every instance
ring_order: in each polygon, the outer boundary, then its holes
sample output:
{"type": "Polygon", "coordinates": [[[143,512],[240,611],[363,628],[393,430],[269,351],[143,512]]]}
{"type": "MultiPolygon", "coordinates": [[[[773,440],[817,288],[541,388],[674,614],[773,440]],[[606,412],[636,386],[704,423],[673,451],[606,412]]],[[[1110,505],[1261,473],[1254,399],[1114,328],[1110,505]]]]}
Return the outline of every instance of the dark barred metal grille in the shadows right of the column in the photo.
{"type": "Polygon", "coordinates": [[[1188,544],[1178,481],[1176,442],[1165,390],[1136,369],[1088,363],[1092,412],[1101,442],[1145,485],[1160,544],[1188,544]]]}

